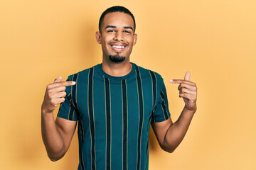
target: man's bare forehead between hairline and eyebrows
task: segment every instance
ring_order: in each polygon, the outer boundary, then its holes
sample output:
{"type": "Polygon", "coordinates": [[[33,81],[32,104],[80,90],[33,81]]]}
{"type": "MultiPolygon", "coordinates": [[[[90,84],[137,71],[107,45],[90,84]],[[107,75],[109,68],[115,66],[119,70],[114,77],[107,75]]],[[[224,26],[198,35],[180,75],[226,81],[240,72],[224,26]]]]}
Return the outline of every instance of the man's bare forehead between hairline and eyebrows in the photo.
{"type": "Polygon", "coordinates": [[[107,13],[107,15],[104,17],[102,26],[103,28],[106,26],[130,26],[134,28],[134,21],[132,16],[128,15],[127,13],[107,13]]]}

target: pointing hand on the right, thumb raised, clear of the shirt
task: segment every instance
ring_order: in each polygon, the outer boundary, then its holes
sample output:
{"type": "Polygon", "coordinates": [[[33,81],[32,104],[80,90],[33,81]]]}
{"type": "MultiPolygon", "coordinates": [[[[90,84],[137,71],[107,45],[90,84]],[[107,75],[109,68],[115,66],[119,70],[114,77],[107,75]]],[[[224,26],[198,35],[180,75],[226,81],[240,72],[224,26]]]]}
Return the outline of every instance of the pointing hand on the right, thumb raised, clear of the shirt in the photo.
{"type": "Polygon", "coordinates": [[[197,87],[195,83],[189,81],[190,75],[190,72],[186,72],[184,79],[172,79],[170,83],[179,84],[179,97],[183,98],[185,107],[188,110],[196,111],[197,87]]]}

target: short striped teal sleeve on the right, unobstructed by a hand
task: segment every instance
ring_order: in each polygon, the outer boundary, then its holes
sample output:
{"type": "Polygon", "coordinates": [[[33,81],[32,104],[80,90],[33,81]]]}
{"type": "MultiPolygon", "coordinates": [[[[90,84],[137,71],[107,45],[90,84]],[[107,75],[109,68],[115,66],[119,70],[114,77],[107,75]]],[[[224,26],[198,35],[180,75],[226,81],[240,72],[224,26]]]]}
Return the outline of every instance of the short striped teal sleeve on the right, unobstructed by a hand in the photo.
{"type": "Polygon", "coordinates": [[[152,122],[162,122],[170,118],[171,114],[168,106],[168,99],[166,94],[166,88],[163,79],[161,79],[161,88],[158,91],[158,98],[156,101],[156,106],[154,107],[152,113],[152,122]]]}

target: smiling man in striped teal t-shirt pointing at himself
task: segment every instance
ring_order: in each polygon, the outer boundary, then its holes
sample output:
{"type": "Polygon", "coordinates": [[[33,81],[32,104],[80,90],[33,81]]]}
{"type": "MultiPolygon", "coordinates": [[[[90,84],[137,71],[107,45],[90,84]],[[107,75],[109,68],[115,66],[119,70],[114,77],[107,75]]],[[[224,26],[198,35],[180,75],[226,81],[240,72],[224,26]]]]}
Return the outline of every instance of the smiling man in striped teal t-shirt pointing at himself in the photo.
{"type": "Polygon", "coordinates": [[[149,127],[166,152],[174,152],[196,112],[196,84],[179,84],[185,107],[175,123],[170,118],[164,81],[159,74],[131,63],[136,44],[135,20],[122,6],[100,17],[96,40],[102,64],[49,84],[41,108],[42,137],[48,157],[57,161],[70,145],[78,122],[78,169],[148,169],[149,127]],[[53,111],[60,103],[58,116],[53,111]]]}

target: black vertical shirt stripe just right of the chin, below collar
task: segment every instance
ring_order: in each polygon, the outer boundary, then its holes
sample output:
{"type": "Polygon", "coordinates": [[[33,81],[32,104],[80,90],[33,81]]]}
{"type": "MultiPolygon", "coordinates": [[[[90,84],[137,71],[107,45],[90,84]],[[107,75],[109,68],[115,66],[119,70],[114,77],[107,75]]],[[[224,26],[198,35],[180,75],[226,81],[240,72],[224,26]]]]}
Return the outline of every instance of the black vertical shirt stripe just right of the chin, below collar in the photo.
{"type": "Polygon", "coordinates": [[[123,115],[123,138],[122,138],[122,169],[127,169],[127,140],[128,140],[128,118],[127,118],[127,82],[122,80],[122,115],[123,115]]]}

